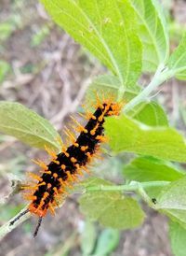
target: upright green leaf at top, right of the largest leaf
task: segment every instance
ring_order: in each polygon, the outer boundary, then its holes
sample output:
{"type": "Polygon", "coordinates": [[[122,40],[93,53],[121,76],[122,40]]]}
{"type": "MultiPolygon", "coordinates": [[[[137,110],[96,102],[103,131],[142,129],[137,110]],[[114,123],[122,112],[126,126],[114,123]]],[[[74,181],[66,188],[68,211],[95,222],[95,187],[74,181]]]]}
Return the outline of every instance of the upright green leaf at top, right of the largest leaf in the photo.
{"type": "Polygon", "coordinates": [[[162,6],[157,0],[131,0],[140,24],[143,71],[155,71],[169,54],[168,30],[162,6]]]}

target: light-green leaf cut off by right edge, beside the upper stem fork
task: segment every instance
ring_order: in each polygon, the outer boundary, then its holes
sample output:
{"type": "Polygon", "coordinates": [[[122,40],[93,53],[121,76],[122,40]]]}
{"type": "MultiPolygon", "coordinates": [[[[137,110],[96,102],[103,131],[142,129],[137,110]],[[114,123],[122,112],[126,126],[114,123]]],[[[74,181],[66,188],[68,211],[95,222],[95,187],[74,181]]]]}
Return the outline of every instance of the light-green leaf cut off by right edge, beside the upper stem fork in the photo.
{"type": "Polygon", "coordinates": [[[168,67],[176,78],[186,79],[186,33],[183,35],[178,48],[171,54],[168,67]]]}

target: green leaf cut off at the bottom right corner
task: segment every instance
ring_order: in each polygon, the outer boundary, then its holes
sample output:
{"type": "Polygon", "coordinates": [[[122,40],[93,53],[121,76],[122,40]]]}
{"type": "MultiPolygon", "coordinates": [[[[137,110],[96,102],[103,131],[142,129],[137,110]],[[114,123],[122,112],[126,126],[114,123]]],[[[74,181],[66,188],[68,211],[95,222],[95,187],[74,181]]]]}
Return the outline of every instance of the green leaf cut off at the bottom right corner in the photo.
{"type": "Polygon", "coordinates": [[[170,221],[169,236],[174,255],[185,256],[186,229],[179,225],[179,223],[170,221]]]}

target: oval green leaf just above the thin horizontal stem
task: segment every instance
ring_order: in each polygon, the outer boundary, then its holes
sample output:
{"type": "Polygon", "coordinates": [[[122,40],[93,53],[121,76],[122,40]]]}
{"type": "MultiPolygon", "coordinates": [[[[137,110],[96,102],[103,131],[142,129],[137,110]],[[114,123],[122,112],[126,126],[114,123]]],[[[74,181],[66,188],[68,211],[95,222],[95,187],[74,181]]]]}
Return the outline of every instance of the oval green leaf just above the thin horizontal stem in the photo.
{"type": "Polygon", "coordinates": [[[138,157],[124,167],[124,176],[130,180],[174,181],[184,176],[173,164],[153,157],[138,157]]]}

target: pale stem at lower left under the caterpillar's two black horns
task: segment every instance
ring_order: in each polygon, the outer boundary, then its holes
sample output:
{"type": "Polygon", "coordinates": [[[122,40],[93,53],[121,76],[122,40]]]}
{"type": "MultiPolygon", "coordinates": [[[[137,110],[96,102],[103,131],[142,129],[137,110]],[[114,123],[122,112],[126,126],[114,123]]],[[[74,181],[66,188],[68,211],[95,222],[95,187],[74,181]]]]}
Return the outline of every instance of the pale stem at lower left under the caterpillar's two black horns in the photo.
{"type": "Polygon", "coordinates": [[[20,220],[17,220],[13,225],[10,225],[10,222],[14,220],[16,217],[20,215],[21,212],[25,211],[28,208],[28,206],[25,206],[15,217],[13,217],[11,220],[9,220],[6,224],[0,227],[0,241],[13,229],[15,229],[20,223],[22,223],[24,220],[29,219],[31,216],[30,212],[25,214],[20,218],[20,220]]]}

